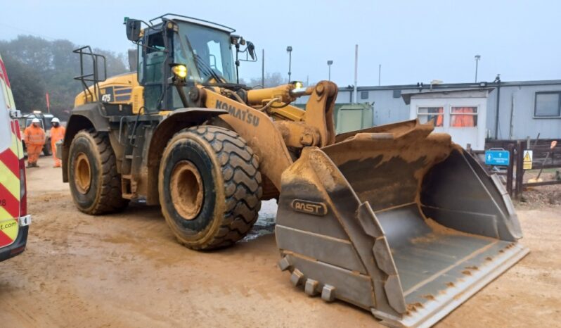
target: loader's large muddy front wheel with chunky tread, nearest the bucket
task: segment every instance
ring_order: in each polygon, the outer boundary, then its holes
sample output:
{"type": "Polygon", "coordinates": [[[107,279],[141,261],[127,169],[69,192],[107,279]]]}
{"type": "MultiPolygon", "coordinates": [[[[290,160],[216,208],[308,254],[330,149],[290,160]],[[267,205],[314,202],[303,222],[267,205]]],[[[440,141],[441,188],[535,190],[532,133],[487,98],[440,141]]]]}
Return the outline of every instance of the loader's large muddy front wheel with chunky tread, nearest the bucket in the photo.
{"type": "Polygon", "coordinates": [[[181,130],[160,162],[162,214],[181,244],[231,246],[250,232],[261,208],[259,161],[236,132],[215,126],[181,130]]]}

